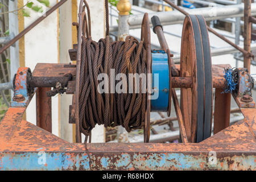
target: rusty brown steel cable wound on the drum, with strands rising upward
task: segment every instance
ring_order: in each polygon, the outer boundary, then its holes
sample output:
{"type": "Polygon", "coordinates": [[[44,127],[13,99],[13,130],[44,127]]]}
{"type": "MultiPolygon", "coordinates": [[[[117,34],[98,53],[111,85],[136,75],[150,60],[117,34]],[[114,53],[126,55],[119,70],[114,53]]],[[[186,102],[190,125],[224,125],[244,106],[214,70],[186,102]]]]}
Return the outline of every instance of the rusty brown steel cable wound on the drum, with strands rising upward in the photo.
{"type": "MultiPolygon", "coordinates": [[[[108,26],[108,1],[105,0],[106,8],[106,38],[98,42],[92,40],[90,36],[89,13],[84,13],[84,24],[82,31],[81,45],[81,67],[79,81],[79,129],[85,135],[90,135],[90,131],[98,125],[105,127],[123,126],[129,132],[131,129],[144,126],[146,113],[146,93],[142,93],[142,88],[146,88],[146,82],[139,80],[139,93],[128,93],[129,81],[127,82],[127,93],[99,93],[98,86],[100,80],[97,77],[100,73],[105,73],[110,78],[110,69],[114,69],[114,75],[124,73],[129,77],[129,73],[147,72],[146,48],[143,41],[138,42],[132,36],[127,36],[125,42],[109,39],[108,26]]],[[[122,80],[124,81],[124,80],[122,80]]],[[[114,86],[118,81],[114,81],[114,86]]],[[[134,85],[133,80],[133,85],[134,85]]],[[[110,85],[110,79],[108,80],[110,85]]],[[[104,85],[105,86],[105,85],[104,85]]],[[[105,89],[105,88],[104,88],[105,89]]]]}

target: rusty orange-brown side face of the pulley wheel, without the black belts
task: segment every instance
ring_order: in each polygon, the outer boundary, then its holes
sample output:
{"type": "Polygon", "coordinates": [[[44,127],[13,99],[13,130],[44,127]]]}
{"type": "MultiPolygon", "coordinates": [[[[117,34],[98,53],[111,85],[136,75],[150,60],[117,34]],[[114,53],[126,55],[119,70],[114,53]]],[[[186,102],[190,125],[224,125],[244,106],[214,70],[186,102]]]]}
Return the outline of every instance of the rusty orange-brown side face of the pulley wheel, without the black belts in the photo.
{"type": "Polygon", "coordinates": [[[180,89],[180,109],[189,142],[195,142],[197,124],[196,45],[192,20],[186,16],[183,24],[180,53],[180,76],[192,77],[192,88],[180,89]]]}

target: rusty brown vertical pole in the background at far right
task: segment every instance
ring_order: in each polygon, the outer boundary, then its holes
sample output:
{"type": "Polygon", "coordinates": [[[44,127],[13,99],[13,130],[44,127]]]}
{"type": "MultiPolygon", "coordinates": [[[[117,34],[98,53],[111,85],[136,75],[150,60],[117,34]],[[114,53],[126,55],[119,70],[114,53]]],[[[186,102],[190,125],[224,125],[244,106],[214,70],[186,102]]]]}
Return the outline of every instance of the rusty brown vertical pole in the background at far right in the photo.
{"type": "MultiPolygon", "coordinates": [[[[251,16],[251,0],[245,1],[245,11],[244,11],[244,31],[243,31],[243,49],[245,51],[251,51],[251,22],[249,20],[251,16]]],[[[248,69],[250,73],[251,57],[249,55],[243,55],[243,67],[248,69]]]]}

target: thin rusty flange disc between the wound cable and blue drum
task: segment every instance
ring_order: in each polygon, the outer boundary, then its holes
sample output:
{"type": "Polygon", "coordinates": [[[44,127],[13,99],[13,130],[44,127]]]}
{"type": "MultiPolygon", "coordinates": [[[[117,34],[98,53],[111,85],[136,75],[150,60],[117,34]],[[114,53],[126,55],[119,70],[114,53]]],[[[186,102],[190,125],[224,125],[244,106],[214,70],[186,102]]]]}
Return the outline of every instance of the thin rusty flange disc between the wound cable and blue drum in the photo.
{"type": "MultiPolygon", "coordinates": [[[[148,21],[148,14],[145,13],[142,20],[141,27],[141,40],[144,42],[144,48],[146,48],[146,60],[147,60],[147,73],[151,73],[151,44],[150,44],[150,24],[148,21]]],[[[152,80],[151,80],[152,82],[152,80]]],[[[151,85],[147,85],[147,89],[151,89],[151,85]]],[[[148,143],[150,139],[150,92],[147,92],[147,110],[144,123],[144,142],[148,143]]]]}

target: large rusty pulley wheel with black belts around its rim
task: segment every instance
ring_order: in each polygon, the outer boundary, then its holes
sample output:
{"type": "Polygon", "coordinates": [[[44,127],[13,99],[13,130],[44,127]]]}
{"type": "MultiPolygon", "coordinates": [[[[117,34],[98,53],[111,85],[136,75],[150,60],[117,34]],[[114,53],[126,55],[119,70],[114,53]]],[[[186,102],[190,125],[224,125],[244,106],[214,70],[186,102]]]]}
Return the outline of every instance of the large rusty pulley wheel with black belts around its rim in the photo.
{"type": "Polygon", "coordinates": [[[210,137],[212,126],[212,61],[203,16],[185,17],[181,38],[180,76],[192,77],[192,88],[180,89],[180,107],[189,142],[210,137]]]}

